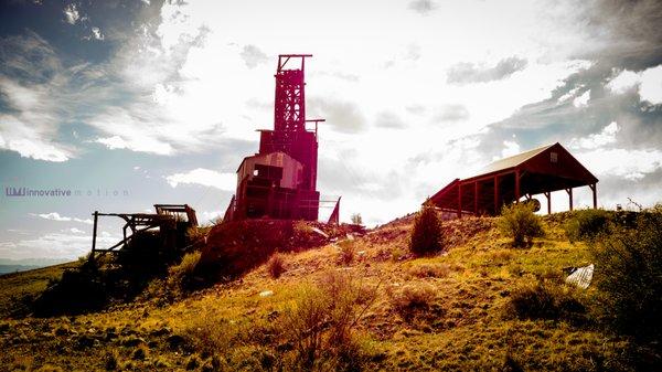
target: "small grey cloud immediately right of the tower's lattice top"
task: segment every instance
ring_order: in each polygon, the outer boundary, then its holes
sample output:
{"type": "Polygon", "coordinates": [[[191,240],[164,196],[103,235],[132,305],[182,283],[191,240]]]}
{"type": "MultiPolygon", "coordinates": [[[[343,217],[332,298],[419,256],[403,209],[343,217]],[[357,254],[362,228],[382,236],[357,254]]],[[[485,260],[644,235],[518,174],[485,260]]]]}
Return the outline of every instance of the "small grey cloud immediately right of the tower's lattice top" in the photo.
{"type": "Polygon", "coordinates": [[[309,117],[327,119],[335,131],[354,134],[365,129],[365,116],[353,102],[309,98],[306,108],[309,117]]]}

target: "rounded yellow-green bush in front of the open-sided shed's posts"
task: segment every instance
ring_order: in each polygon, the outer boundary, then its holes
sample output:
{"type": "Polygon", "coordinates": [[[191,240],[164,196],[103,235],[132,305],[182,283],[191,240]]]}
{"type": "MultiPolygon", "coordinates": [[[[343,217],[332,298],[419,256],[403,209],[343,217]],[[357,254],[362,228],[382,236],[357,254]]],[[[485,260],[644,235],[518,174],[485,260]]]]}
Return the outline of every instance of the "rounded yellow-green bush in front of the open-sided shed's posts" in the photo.
{"type": "Polygon", "coordinates": [[[501,210],[498,227],[501,233],[512,237],[513,246],[521,248],[533,245],[533,238],[543,235],[541,220],[533,213],[533,203],[504,205],[501,210]]]}

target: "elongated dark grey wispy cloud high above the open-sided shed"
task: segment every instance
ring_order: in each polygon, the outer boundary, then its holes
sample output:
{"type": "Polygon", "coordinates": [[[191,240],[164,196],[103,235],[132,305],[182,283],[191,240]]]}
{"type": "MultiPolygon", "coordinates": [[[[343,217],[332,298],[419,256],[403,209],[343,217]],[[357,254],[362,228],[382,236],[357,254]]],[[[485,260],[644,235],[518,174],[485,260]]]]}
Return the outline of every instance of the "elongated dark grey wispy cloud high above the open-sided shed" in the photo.
{"type": "Polygon", "coordinates": [[[452,65],[446,75],[448,84],[466,85],[500,81],[526,67],[526,60],[511,56],[499,61],[494,67],[461,62],[452,65]]]}

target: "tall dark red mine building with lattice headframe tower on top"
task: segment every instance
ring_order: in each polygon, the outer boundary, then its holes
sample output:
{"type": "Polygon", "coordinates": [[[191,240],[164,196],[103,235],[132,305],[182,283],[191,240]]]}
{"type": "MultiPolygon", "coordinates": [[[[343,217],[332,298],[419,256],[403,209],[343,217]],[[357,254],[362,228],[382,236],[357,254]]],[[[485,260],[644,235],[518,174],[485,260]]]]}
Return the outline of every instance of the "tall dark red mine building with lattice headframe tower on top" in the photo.
{"type": "Polygon", "coordinates": [[[318,123],[306,119],[306,59],[282,54],[276,70],[274,129],[261,129],[259,150],[237,169],[237,188],[224,220],[318,219],[318,123]],[[313,128],[307,128],[307,124],[313,128]]]}

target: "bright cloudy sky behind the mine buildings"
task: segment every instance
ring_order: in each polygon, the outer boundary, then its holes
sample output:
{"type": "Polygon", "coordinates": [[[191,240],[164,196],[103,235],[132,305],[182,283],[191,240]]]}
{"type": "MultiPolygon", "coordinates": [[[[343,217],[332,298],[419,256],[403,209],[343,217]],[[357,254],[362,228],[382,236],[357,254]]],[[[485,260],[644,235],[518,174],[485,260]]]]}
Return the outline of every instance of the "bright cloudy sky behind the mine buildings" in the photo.
{"type": "MultiPolygon", "coordinates": [[[[256,130],[273,127],[287,53],[313,55],[318,189],[342,196],[341,221],[388,222],[557,141],[600,180],[600,206],[653,205],[661,19],[655,0],[2,1],[0,261],[84,255],[94,211],[222,215],[256,130]]],[[[576,206],[590,198],[577,189],[576,206]]],[[[119,233],[100,221],[100,244],[119,233]]]]}

